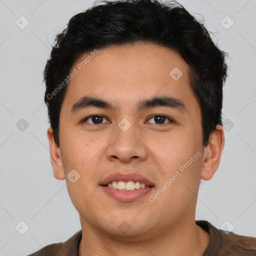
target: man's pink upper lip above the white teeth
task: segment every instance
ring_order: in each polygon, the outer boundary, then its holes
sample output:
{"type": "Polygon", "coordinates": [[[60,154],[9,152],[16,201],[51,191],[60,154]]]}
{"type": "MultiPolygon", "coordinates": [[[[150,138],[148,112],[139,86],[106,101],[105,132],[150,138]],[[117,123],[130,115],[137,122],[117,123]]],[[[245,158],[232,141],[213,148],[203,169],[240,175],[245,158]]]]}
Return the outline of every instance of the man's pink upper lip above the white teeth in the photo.
{"type": "Polygon", "coordinates": [[[146,177],[138,174],[138,173],[112,173],[106,176],[99,185],[106,185],[113,181],[139,181],[140,183],[144,183],[146,186],[154,186],[154,183],[148,180],[146,177]]]}

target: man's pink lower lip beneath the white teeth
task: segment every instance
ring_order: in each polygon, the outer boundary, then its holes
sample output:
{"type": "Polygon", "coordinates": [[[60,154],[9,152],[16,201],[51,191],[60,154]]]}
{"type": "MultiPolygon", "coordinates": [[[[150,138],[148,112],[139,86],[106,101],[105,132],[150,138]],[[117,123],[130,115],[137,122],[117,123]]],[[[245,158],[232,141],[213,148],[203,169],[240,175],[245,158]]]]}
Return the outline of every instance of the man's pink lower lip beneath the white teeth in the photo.
{"type": "Polygon", "coordinates": [[[110,188],[108,186],[101,186],[103,190],[112,196],[113,198],[119,200],[119,201],[135,201],[138,198],[142,197],[143,195],[149,193],[153,186],[149,188],[139,188],[139,189],[134,189],[134,190],[119,190],[115,188],[110,188]]]}

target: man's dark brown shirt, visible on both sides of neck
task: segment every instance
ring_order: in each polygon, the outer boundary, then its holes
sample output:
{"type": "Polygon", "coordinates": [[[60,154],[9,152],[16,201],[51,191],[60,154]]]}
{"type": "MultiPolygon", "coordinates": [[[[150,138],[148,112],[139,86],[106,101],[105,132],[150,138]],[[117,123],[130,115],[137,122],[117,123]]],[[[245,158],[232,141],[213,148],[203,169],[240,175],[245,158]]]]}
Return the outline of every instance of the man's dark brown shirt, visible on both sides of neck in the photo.
{"type": "MultiPolygon", "coordinates": [[[[210,235],[209,244],[202,256],[256,256],[255,237],[233,232],[226,234],[206,220],[196,220],[195,223],[210,235]]],[[[46,245],[28,256],[78,256],[81,235],[79,230],[67,241],[46,245]]]]}

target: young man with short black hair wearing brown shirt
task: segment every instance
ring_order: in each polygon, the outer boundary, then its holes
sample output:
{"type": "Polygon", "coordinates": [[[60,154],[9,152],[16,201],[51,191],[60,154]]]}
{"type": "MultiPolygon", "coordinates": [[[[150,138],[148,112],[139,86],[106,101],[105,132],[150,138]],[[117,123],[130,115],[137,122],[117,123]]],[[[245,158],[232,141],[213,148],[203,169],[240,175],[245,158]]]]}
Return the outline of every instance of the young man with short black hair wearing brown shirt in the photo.
{"type": "Polygon", "coordinates": [[[45,103],[81,230],[30,255],[256,255],[256,238],[195,221],[224,146],[225,55],[175,2],[105,1],[70,19],[45,103]]]}

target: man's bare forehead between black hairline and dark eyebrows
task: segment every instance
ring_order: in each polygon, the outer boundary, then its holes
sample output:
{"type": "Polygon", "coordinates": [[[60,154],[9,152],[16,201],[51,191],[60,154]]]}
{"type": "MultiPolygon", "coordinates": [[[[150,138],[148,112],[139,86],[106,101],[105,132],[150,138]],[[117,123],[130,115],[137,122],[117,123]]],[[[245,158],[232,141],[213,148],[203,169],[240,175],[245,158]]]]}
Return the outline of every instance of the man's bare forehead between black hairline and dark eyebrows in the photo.
{"type": "Polygon", "coordinates": [[[63,102],[69,108],[84,95],[105,98],[116,107],[157,94],[185,101],[193,97],[188,64],[176,51],[151,43],[86,52],[73,63],[74,69],[63,102]]]}

